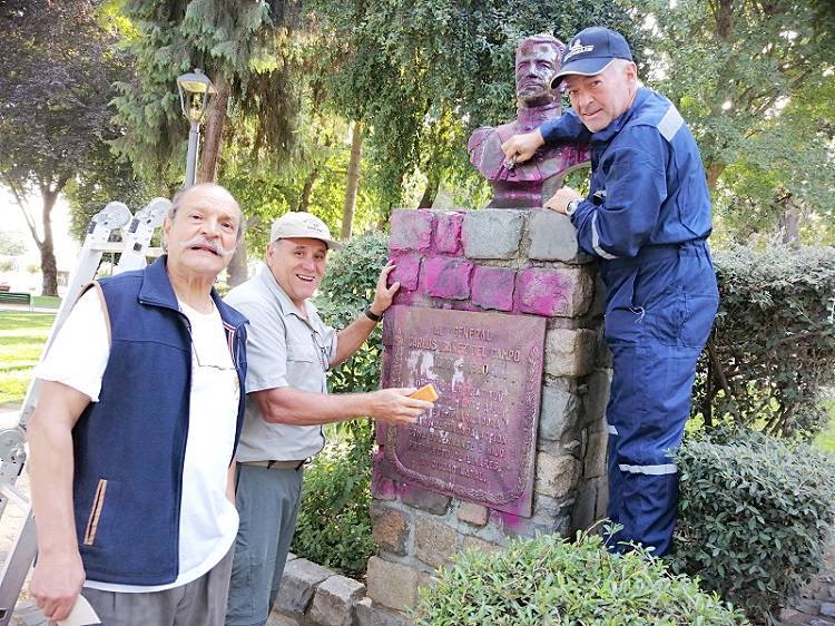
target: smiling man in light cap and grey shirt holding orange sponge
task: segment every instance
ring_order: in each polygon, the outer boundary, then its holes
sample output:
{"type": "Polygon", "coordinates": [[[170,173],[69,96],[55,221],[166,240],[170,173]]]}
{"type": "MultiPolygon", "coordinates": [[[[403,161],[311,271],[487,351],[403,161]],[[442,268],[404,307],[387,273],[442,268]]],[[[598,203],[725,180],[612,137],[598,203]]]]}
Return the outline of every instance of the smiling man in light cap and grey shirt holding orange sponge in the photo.
{"type": "Polygon", "coordinates": [[[414,389],[327,395],[325,372],[360,349],[400,288],[386,285],[394,265],[380,273],[371,305],[337,333],[310,301],[328,250],[340,247],[325,223],[310,213],[288,213],[273,223],[269,242],[266,267],[226,296],[249,319],[229,626],[267,622],[295,531],[302,467],[325,444],[322,424],[362,415],[409,423],[432,407],[409,398],[414,389]]]}

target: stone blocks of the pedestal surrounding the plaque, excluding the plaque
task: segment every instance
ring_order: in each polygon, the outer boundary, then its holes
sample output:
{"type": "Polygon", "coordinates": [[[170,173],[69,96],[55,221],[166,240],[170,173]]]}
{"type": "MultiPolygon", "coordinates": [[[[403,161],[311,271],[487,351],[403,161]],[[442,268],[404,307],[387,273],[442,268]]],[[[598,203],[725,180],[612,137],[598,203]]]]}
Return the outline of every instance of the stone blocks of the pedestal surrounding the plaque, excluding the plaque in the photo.
{"type": "Polygon", "coordinates": [[[605,516],[610,374],[602,288],[567,217],[547,209],[396,211],[390,256],[397,264],[392,280],[401,283],[395,304],[547,319],[530,518],[404,481],[377,451],[377,555],[366,584],[371,606],[391,618],[459,550],[498,549],[536,532],[567,536],[605,516]]]}

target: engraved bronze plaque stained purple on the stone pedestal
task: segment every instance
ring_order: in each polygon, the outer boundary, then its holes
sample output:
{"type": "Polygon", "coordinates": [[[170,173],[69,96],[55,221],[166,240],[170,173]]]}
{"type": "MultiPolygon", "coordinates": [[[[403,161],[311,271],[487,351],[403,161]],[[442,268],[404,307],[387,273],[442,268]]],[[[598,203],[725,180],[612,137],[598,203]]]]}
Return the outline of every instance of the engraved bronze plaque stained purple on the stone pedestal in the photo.
{"type": "Polygon", "coordinates": [[[407,481],[530,517],[546,320],[392,306],[385,387],[432,383],[439,400],[407,427],[381,433],[407,481]]]}

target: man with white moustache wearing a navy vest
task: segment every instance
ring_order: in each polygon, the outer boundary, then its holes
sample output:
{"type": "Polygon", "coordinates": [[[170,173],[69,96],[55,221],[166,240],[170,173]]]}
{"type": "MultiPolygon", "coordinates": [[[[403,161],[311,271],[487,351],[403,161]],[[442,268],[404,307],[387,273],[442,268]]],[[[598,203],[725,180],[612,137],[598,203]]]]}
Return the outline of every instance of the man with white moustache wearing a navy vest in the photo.
{"type": "Polygon", "coordinates": [[[30,590],[52,620],[80,593],[107,626],[223,624],[246,319],[213,284],[240,228],[223,187],[180,193],[167,255],[94,283],[36,371],[30,590]]]}

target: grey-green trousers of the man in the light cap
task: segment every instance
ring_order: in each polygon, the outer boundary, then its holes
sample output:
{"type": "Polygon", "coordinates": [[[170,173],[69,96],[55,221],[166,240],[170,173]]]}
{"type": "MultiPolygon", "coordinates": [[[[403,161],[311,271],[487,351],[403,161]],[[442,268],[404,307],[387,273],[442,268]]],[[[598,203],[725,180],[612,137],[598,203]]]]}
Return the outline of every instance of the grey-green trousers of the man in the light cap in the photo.
{"type": "Polygon", "coordinates": [[[238,463],[235,540],[226,626],[264,626],[278,596],[302,497],[302,470],[238,463]]]}

